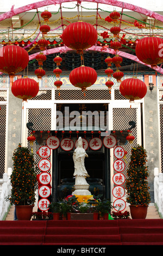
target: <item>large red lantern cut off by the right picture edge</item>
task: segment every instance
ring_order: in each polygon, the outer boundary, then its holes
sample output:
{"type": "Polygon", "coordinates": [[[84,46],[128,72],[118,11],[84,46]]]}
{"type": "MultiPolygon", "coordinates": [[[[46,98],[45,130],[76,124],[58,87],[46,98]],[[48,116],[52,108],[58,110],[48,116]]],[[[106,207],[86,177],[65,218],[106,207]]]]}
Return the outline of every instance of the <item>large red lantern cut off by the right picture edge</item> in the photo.
{"type": "Polygon", "coordinates": [[[141,62],[151,65],[154,68],[156,65],[163,62],[163,54],[161,54],[161,46],[163,39],[156,36],[144,37],[137,42],[135,52],[141,62]]]}

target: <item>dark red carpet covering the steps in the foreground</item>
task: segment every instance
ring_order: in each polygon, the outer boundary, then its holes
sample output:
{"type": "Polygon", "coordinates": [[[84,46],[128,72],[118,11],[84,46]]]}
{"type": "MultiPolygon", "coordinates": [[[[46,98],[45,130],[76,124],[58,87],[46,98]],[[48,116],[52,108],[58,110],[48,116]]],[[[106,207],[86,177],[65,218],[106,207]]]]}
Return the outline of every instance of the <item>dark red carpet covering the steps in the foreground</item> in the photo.
{"type": "Polygon", "coordinates": [[[163,220],[0,221],[0,245],[163,245],[163,220]]]}

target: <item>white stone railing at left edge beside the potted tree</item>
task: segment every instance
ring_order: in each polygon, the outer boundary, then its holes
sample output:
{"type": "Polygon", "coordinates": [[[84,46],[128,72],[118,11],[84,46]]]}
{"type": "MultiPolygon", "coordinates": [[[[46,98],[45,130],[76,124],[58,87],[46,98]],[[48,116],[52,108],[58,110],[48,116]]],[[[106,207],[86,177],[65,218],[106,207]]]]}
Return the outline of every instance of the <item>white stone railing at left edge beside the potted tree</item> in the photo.
{"type": "MultiPolygon", "coordinates": [[[[10,171],[10,170],[9,170],[10,171]]],[[[9,175],[7,173],[3,174],[2,186],[0,192],[0,221],[3,220],[4,216],[7,214],[10,202],[5,200],[6,197],[9,196],[11,191],[11,185],[9,180],[9,175]]]]}

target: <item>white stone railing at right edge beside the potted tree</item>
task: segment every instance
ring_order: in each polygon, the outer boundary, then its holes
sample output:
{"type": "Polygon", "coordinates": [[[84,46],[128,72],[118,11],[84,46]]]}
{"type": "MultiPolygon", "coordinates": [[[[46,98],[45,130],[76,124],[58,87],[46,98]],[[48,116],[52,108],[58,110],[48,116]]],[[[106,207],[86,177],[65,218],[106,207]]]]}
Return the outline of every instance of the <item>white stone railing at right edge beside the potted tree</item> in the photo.
{"type": "Polygon", "coordinates": [[[154,203],[163,218],[163,173],[158,168],[154,168],[154,203]]]}

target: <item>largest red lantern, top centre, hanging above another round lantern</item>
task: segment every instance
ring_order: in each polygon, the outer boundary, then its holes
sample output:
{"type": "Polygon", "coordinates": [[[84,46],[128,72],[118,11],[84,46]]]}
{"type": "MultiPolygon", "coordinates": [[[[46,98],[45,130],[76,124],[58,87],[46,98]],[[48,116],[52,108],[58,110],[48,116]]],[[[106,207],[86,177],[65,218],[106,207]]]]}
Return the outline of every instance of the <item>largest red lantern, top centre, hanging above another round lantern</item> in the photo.
{"type": "Polygon", "coordinates": [[[79,21],[68,25],[61,37],[67,47],[81,53],[84,49],[95,45],[97,31],[91,24],[79,21]]]}

